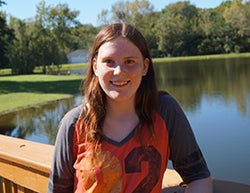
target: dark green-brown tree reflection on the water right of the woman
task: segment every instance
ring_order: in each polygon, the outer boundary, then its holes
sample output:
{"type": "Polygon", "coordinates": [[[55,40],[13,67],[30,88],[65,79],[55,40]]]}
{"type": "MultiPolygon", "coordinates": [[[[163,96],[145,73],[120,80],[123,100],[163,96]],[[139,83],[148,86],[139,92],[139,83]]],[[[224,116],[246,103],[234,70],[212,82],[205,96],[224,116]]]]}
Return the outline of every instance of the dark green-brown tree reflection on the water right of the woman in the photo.
{"type": "Polygon", "coordinates": [[[203,95],[236,101],[250,115],[250,58],[198,60],[155,65],[158,86],[174,94],[188,111],[199,108],[203,95]]]}

